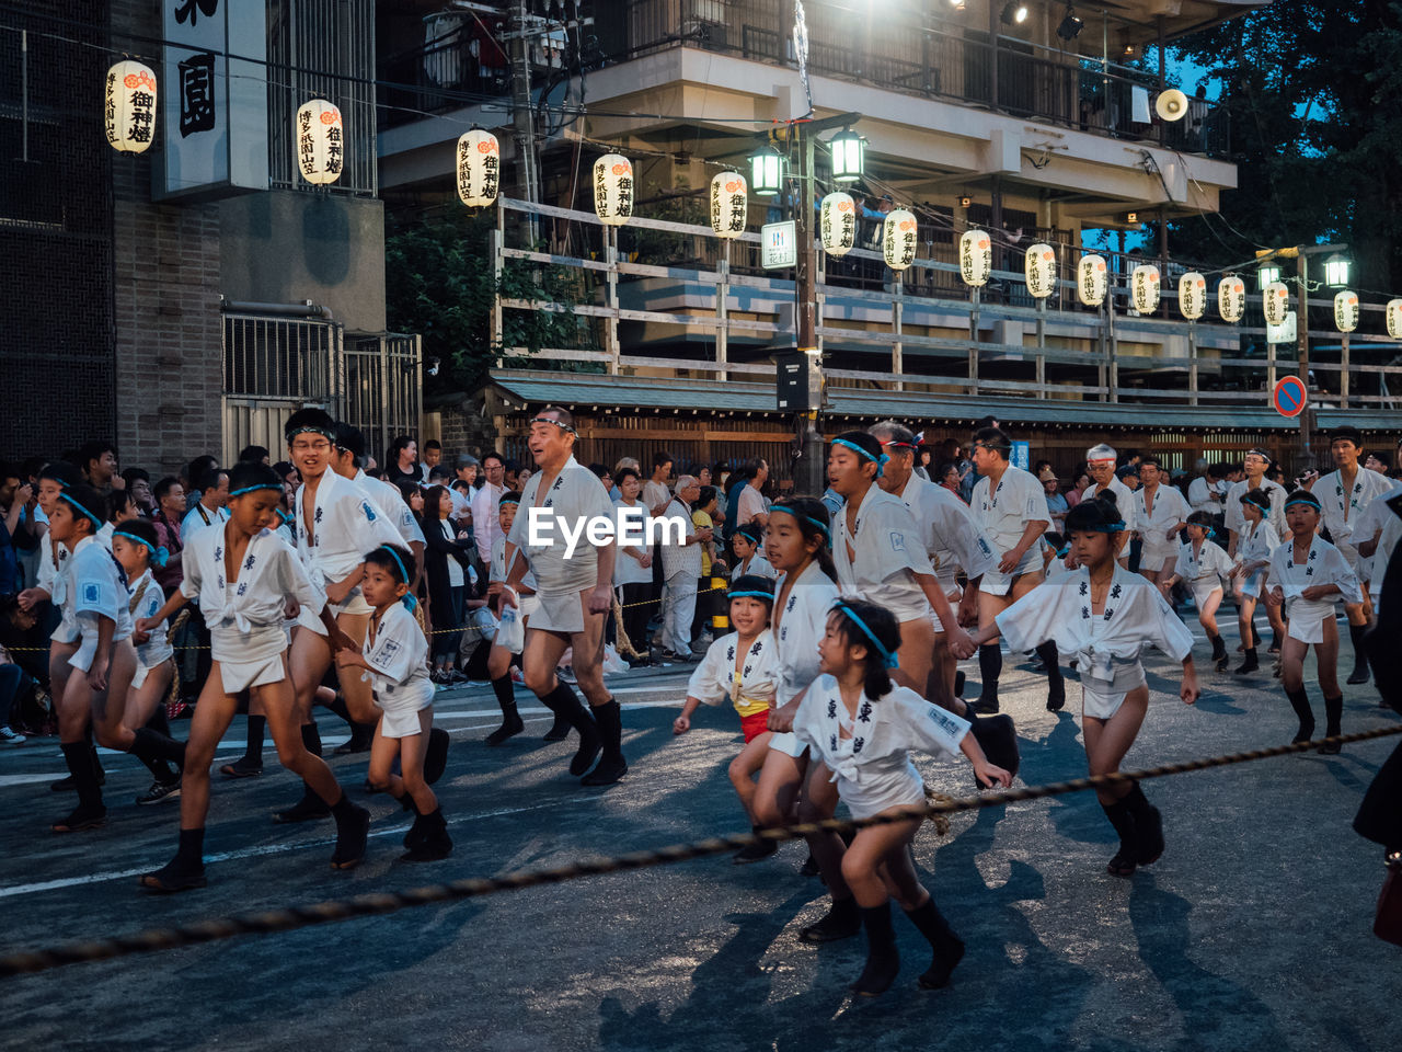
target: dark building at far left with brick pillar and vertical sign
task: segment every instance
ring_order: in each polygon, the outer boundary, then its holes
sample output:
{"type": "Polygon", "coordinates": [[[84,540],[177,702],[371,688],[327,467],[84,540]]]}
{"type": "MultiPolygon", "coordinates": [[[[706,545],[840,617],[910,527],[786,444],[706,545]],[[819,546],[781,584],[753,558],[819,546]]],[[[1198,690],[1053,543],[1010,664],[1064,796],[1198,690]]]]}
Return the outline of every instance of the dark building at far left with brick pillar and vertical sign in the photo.
{"type": "Polygon", "coordinates": [[[307,404],[377,443],[418,429],[418,339],[386,331],[373,27],[373,0],[0,11],[4,456],[114,438],[123,466],[231,461],[307,404]],[[104,136],[123,56],[160,86],[144,153],[104,136]],[[314,97],[345,121],[329,187],[297,170],[314,97]]]}

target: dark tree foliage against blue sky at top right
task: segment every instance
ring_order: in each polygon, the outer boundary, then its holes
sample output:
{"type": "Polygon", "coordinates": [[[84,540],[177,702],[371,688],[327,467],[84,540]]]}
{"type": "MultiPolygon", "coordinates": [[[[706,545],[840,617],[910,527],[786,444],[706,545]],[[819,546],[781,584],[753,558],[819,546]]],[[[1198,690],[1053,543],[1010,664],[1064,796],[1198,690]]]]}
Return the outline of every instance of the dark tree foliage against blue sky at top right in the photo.
{"type": "Polygon", "coordinates": [[[1178,49],[1221,80],[1238,189],[1175,254],[1347,241],[1360,286],[1402,289],[1402,0],[1276,0],[1178,49]]]}

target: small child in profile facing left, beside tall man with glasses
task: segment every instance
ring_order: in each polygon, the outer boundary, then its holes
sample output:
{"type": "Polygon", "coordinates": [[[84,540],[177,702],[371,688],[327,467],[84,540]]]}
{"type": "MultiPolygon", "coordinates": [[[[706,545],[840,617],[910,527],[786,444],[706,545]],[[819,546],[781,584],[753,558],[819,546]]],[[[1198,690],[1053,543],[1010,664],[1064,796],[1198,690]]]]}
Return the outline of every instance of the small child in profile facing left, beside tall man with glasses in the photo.
{"type": "MultiPolygon", "coordinates": [[[[433,729],[433,682],[429,679],[429,641],[414,617],[409,595],[414,555],[384,544],[365,557],[360,588],[374,607],[365,638],[365,652],[345,651],[342,669],[365,669],[374,687],[374,704],[384,713],[370,746],[369,781],[414,809],[414,825],[404,835],[408,849],[401,858],[426,863],[447,858],[453,840],[439,798],[423,780],[423,753],[433,729]],[[391,770],[400,759],[402,776],[391,770]]],[[[350,673],[353,675],[353,673],[350,673]]]]}

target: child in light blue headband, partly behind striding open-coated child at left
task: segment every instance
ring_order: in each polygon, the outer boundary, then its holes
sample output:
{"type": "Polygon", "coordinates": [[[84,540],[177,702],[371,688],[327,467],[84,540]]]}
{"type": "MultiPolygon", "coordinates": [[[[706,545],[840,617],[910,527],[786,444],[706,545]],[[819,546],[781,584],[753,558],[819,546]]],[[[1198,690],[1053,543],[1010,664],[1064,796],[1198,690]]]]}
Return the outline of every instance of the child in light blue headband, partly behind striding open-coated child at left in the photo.
{"type": "MultiPolygon", "coordinates": [[[[151,567],[165,565],[165,548],[157,544],[156,527],[149,522],[122,522],[112,533],[112,555],[126,571],[128,610],[133,621],[153,619],[165,603],[165,593],[156,584],[151,567]]],[[[165,718],[165,696],[175,677],[174,648],[167,637],[165,621],[156,621],[149,631],[133,631],[136,647],[136,675],[126,692],[122,725],[136,734],[149,727],[164,738],[171,736],[165,718]]],[[[137,804],[158,804],[179,795],[179,766],[156,756],[142,756],[154,781],[137,804]]]]}

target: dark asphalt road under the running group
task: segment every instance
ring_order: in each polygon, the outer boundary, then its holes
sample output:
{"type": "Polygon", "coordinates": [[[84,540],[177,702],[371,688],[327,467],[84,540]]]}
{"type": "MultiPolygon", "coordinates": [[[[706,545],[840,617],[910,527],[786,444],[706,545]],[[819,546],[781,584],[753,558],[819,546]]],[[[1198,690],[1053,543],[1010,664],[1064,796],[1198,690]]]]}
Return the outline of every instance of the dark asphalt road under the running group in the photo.
{"type": "MultiPolygon", "coordinates": [[[[1206,661],[1204,644],[1197,654],[1206,661]]],[[[1209,672],[1189,708],[1176,700],[1176,669],[1161,659],[1148,668],[1154,700],[1127,766],[1274,745],[1294,729],[1269,672],[1245,683],[1209,672]]],[[[372,797],[372,853],[356,871],[334,872],[329,822],[271,823],[300,787],[269,746],[262,777],[216,776],[209,888],[172,898],[136,886],[167,861],[177,829],[174,802],[132,804],[149,781],[143,769],[105,755],[108,826],[55,836],[48,822],[69,802],[46,788],[63,773],[57,746],[7,750],[0,952],[742,832],[725,776],[737,720],[702,710],[674,739],[684,675],[611,680],[632,770],[606,791],[568,776],[572,745],[538,741],[550,725],[543,710],[527,707],[527,734],[486,749],[491,692],[444,694],[439,720],[454,745],[439,790],[457,844],[444,863],[398,861],[407,823],[372,797]]],[[[1067,711],[1053,715],[1042,683],[1009,658],[1004,711],[1018,720],[1028,784],[1084,771],[1080,689],[1070,685],[1067,711]]],[[[1396,721],[1370,692],[1349,689],[1346,731],[1396,721]]],[[[1322,725],[1318,692],[1314,700],[1322,725]]],[[[322,722],[328,742],[334,724],[322,722]]],[[[820,882],[796,872],[802,846],[788,844],[757,865],[697,860],[0,980],[0,1046],[1395,1048],[1402,951],[1370,931],[1381,849],[1349,828],[1395,743],[1145,783],[1168,851],[1127,881],[1105,872],[1112,830],[1091,794],[956,815],[944,839],[927,825],[916,842],[923,877],[969,943],[952,987],[937,993],[916,986],[928,950],[897,916],[901,976],[879,1000],[854,1003],[847,983],[862,941],[796,940],[826,906],[820,882]]],[[[238,721],[220,757],[241,748],[238,721]]],[[[332,766],[346,785],[363,781],[365,756],[332,766]]],[[[970,785],[967,767],[921,766],[942,791],[970,785]]]]}

